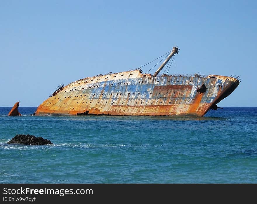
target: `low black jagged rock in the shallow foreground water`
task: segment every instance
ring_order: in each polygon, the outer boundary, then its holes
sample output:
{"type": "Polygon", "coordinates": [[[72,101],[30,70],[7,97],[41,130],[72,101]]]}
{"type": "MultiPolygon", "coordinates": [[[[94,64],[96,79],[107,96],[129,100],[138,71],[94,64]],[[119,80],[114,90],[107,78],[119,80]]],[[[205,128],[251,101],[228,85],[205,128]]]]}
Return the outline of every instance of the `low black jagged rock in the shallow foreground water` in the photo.
{"type": "Polygon", "coordinates": [[[16,135],[8,144],[53,144],[50,140],[45,140],[42,137],[35,137],[34,135],[16,135]]]}

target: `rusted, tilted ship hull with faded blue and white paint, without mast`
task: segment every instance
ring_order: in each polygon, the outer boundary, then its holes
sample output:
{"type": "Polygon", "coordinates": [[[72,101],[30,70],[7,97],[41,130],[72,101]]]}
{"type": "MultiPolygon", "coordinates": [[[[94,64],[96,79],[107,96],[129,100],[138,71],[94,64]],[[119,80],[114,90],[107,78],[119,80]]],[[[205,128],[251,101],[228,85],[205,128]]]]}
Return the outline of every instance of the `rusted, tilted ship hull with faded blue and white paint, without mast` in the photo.
{"type": "Polygon", "coordinates": [[[204,116],[239,83],[235,76],[110,73],[60,87],[36,115],[204,116]]]}

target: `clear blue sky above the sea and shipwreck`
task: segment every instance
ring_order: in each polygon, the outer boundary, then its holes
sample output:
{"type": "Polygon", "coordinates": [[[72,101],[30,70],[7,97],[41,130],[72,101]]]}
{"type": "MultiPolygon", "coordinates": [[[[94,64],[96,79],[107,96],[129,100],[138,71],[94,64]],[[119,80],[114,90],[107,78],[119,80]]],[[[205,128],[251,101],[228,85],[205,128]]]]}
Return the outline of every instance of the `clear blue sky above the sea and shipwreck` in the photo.
{"type": "Polygon", "coordinates": [[[2,0],[0,106],[38,106],[61,83],[141,67],[174,45],[171,73],[238,75],[218,106],[257,106],[256,2],[2,0]]]}

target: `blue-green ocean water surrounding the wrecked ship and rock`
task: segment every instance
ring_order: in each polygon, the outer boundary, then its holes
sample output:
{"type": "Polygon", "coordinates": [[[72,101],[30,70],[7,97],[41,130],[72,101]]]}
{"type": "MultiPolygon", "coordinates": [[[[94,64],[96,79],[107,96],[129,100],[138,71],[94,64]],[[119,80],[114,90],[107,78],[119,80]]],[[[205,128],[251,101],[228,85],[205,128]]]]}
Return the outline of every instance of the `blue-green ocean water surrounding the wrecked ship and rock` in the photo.
{"type": "Polygon", "coordinates": [[[0,183],[257,183],[257,107],[204,117],[29,116],[0,107],[0,183]],[[16,134],[53,145],[7,144],[16,134]]]}

